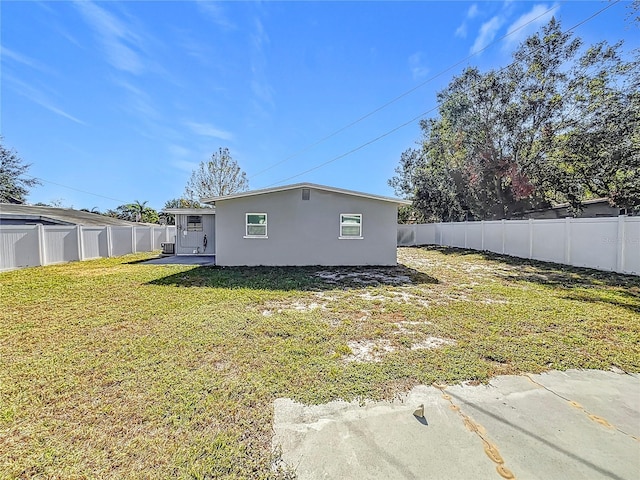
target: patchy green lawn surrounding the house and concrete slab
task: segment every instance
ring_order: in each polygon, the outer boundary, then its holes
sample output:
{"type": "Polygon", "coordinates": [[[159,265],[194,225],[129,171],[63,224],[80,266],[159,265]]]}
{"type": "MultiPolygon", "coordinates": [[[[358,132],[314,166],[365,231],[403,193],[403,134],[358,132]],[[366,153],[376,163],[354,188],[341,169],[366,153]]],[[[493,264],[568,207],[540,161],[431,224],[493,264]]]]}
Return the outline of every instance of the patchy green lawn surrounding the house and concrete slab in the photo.
{"type": "Polygon", "coordinates": [[[640,278],[440,248],[397,268],[149,255],[0,274],[0,478],[274,478],[272,402],[640,371],[640,278]]]}

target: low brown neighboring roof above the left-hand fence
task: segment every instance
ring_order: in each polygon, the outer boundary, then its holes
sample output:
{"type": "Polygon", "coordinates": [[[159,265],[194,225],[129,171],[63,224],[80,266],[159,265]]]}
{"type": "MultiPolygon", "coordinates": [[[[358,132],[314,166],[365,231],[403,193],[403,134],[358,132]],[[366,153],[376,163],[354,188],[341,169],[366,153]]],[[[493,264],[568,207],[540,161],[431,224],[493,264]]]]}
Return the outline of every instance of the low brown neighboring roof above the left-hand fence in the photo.
{"type": "Polygon", "coordinates": [[[83,212],[71,208],[35,207],[0,203],[0,223],[18,222],[26,224],[45,223],[48,225],[112,225],[131,226],[133,222],[107,217],[97,213],[83,212]]]}

